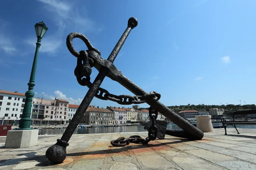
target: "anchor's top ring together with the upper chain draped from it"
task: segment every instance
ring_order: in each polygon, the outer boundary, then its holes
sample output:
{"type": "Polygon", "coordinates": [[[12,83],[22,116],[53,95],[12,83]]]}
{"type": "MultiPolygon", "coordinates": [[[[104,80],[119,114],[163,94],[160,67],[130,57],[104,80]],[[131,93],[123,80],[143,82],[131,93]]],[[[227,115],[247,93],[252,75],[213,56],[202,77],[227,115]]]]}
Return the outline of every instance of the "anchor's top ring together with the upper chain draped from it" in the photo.
{"type": "MultiPolygon", "coordinates": [[[[67,47],[71,54],[77,57],[77,64],[74,71],[76,76],[77,82],[79,85],[87,86],[90,88],[93,84],[90,82],[90,75],[92,72],[92,67],[95,64],[95,61],[88,56],[88,51],[96,51],[100,55],[98,49],[94,48],[90,41],[85,37],[83,34],[80,33],[71,33],[67,37],[67,47]],[[74,38],[80,38],[86,44],[88,50],[77,52],[72,44],[72,40],[74,38]]],[[[142,104],[145,103],[147,100],[157,101],[160,99],[161,95],[155,91],[151,91],[148,94],[144,94],[143,96],[131,96],[131,95],[114,95],[109,93],[104,88],[99,88],[98,93],[95,95],[98,99],[102,100],[111,100],[113,102],[117,102],[120,105],[131,105],[131,104],[142,104]]]]}

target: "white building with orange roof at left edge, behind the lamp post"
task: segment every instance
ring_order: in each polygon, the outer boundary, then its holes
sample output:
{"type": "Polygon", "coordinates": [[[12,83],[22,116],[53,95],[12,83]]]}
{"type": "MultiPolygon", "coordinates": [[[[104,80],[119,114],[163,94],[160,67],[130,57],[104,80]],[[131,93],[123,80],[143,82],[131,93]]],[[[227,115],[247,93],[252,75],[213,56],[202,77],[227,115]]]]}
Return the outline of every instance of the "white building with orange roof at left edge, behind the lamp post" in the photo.
{"type": "Polygon", "coordinates": [[[18,125],[25,101],[25,94],[0,90],[0,125],[18,125]]]}

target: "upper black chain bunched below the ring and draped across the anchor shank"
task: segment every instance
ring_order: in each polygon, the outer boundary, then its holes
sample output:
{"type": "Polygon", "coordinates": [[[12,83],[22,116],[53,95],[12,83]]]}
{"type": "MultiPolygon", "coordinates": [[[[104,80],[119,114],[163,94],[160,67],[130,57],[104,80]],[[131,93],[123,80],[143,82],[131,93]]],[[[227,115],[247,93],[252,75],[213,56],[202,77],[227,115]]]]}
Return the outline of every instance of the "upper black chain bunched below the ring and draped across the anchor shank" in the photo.
{"type": "MultiPolygon", "coordinates": [[[[98,52],[98,51],[96,51],[98,52]]],[[[100,54],[100,53],[99,53],[100,54]]],[[[77,65],[75,68],[75,76],[78,83],[82,86],[87,86],[90,88],[92,83],[90,82],[90,74],[92,72],[91,67],[94,66],[94,61],[88,57],[87,51],[80,51],[77,56],[77,65]],[[86,78],[83,78],[86,77],[86,78]]],[[[95,95],[98,99],[111,100],[117,102],[120,105],[131,105],[131,104],[142,104],[146,100],[157,101],[160,99],[161,95],[155,91],[151,91],[143,96],[130,96],[130,95],[114,95],[109,93],[104,88],[99,88],[98,93],[95,95]]]]}

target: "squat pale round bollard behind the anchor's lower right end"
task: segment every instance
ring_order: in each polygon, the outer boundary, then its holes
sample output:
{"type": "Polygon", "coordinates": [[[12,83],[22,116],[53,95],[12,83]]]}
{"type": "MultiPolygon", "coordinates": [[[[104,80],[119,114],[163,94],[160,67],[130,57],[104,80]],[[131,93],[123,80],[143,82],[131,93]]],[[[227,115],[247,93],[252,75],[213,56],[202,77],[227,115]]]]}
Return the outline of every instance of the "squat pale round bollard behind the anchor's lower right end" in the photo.
{"type": "Polygon", "coordinates": [[[203,132],[213,132],[211,115],[195,116],[196,127],[203,132]]]}

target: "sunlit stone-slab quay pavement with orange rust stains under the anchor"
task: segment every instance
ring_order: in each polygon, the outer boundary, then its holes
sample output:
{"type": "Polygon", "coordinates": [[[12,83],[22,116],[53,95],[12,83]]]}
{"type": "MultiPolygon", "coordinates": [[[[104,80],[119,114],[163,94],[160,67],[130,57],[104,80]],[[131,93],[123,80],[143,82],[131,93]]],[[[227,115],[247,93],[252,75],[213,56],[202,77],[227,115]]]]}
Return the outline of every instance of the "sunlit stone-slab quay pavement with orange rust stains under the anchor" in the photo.
{"type": "Polygon", "coordinates": [[[148,145],[129,144],[111,147],[110,141],[137,133],[104,133],[73,135],[67,147],[67,158],[52,164],[46,157],[48,147],[60,135],[38,136],[38,145],[5,149],[0,137],[0,169],[3,170],[256,170],[255,129],[214,129],[198,141],[166,136],[148,145]]]}

